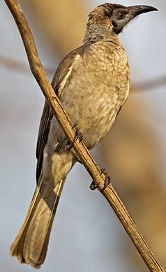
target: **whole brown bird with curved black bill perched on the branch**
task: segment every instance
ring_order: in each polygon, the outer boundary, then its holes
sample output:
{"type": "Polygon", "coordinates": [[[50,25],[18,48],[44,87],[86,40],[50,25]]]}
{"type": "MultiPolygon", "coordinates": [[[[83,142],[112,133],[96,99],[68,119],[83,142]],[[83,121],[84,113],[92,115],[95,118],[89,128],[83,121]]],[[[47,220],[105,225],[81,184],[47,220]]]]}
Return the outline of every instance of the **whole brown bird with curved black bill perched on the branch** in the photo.
{"type": "MultiPolygon", "coordinates": [[[[112,127],[128,99],[130,69],[119,34],[137,15],[157,10],[152,6],[104,3],[93,9],[83,44],[62,59],[52,87],[86,148],[91,150],[112,127]]],[[[39,269],[47,248],[61,191],[69,171],[79,162],[50,105],[45,100],[36,148],[36,191],[10,256],[39,269]]]]}

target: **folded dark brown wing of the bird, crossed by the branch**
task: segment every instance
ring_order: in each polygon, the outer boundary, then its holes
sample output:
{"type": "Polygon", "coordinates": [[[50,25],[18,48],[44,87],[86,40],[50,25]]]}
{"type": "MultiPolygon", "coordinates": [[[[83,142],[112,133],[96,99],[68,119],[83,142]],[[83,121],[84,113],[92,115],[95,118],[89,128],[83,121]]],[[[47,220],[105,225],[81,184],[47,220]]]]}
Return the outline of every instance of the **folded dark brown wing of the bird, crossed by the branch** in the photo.
{"type": "MultiPolygon", "coordinates": [[[[75,64],[77,57],[82,55],[82,50],[84,50],[84,46],[71,51],[68,55],[66,55],[66,57],[64,57],[64,59],[61,61],[58,68],[56,69],[54,78],[52,79],[52,87],[57,96],[59,96],[59,90],[63,90],[63,87],[70,76],[70,72],[73,69],[73,65],[75,64]]],[[[37,181],[42,169],[43,150],[45,148],[45,144],[47,143],[47,137],[50,131],[50,122],[52,120],[52,117],[53,113],[50,105],[47,100],[45,100],[43,114],[40,119],[40,127],[38,131],[38,141],[36,147],[36,157],[38,159],[36,167],[37,181]]]]}

